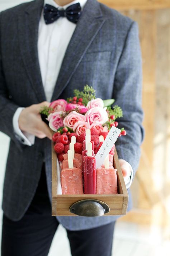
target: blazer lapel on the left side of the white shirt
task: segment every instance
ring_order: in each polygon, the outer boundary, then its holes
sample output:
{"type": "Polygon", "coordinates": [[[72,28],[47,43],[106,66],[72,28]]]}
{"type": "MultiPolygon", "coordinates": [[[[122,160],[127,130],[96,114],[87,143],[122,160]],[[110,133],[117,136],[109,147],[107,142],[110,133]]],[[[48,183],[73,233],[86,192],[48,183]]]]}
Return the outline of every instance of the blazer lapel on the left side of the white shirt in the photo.
{"type": "Polygon", "coordinates": [[[23,14],[18,17],[20,52],[22,54],[25,69],[39,102],[46,100],[37,48],[38,26],[43,4],[43,0],[31,2],[23,14]]]}

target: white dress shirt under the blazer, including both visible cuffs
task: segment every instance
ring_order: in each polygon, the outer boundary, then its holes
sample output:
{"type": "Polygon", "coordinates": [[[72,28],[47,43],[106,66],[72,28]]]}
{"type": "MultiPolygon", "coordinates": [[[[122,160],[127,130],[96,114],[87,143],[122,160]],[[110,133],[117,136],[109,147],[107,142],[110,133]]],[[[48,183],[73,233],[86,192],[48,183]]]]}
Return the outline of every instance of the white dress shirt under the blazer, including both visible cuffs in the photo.
{"type": "MultiPolygon", "coordinates": [[[[86,1],[87,0],[74,0],[67,5],[59,6],[53,0],[44,0],[44,5],[49,4],[55,6],[59,10],[62,10],[66,9],[71,4],[80,3],[82,10],[86,1]]],[[[66,17],[60,17],[57,19],[57,21],[47,25],[44,21],[42,10],[38,29],[38,58],[42,84],[44,87],[46,100],[48,102],[51,102],[62,60],[75,28],[76,24],[70,22],[66,17]]],[[[19,115],[23,109],[24,108],[19,107],[13,116],[14,132],[15,136],[20,140],[21,143],[31,146],[34,144],[35,136],[24,131],[22,132],[18,125],[19,115]]],[[[130,168],[132,170],[131,165],[130,168]]],[[[130,187],[132,178],[133,171],[131,178],[127,177],[127,188],[130,187]]]]}

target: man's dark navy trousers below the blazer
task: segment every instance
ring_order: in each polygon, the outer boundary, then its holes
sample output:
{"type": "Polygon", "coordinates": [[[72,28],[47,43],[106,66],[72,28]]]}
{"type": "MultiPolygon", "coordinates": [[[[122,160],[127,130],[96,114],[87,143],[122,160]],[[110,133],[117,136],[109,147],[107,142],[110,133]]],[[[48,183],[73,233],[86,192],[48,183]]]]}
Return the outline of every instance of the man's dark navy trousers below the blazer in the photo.
{"type": "MultiPolygon", "coordinates": [[[[3,216],[1,256],[47,256],[58,225],[56,217],[51,216],[43,165],[36,194],[24,217],[11,221],[3,216]]],[[[114,225],[67,230],[72,256],[111,256],[114,225]]]]}

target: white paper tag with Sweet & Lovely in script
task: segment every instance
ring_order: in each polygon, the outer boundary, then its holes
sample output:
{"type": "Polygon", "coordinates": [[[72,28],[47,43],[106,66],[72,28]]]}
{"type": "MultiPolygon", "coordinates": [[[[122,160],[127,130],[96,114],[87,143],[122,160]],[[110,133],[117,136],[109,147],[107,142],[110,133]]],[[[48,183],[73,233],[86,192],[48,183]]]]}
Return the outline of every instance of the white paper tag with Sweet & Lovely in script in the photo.
{"type": "Polygon", "coordinates": [[[101,148],[99,149],[98,153],[96,154],[96,169],[100,168],[103,164],[105,158],[109,154],[110,150],[112,149],[114,143],[116,142],[121,130],[112,126],[110,129],[107,137],[105,138],[101,148]]]}

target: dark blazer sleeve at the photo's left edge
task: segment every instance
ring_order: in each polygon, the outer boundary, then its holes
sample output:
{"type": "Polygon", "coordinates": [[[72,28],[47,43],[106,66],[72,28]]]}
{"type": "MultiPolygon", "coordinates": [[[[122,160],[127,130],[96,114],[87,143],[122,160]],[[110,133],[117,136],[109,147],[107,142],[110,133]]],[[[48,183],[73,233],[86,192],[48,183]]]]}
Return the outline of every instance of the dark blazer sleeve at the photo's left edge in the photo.
{"type": "Polygon", "coordinates": [[[19,107],[12,100],[10,100],[10,95],[5,82],[5,76],[3,73],[3,63],[2,63],[2,53],[1,53],[1,13],[0,13],[0,131],[8,135],[22,150],[21,143],[16,138],[13,129],[13,116],[16,109],[19,107]]]}

